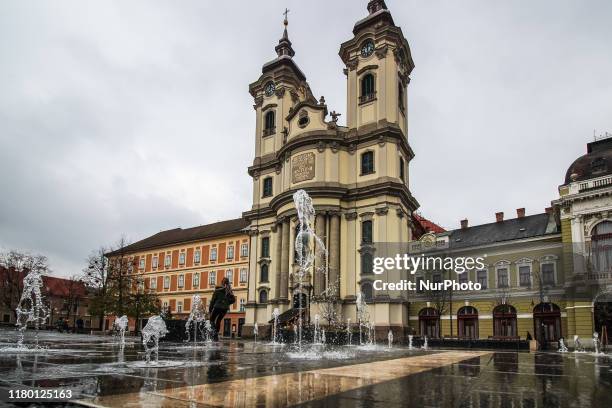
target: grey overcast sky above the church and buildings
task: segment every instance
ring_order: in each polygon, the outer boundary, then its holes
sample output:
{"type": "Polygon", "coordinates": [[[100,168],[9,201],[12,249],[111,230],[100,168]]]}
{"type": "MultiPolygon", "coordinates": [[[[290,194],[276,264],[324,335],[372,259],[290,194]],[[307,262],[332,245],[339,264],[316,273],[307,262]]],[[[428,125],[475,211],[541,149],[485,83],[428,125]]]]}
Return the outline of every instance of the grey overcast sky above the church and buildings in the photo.
{"type": "MultiPolygon", "coordinates": [[[[248,84],[288,7],[295,60],[346,108],[340,43],[367,0],[0,3],[0,248],[58,275],[124,234],[239,217],[248,84]]],[[[447,228],[542,212],[612,132],[612,2],[387,0],[416,68],[411,190],[447,228]]],[[[346,115],[341,117],[345,118],[346,115]]]]}

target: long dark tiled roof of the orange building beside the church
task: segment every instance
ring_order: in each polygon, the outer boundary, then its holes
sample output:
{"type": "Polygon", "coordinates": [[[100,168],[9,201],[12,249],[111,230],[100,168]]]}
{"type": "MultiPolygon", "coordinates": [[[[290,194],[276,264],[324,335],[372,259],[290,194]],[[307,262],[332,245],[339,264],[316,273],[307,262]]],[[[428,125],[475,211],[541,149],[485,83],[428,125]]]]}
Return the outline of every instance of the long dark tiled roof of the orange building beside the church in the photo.
{"type": "MultiPolygon", "coordinates": [[[[145,249],[157,248],[167,245],[179,244],[181,242],[192,242],[206,238],[220,237],[224,235],[239,233],[243,231],[249,223],[242,218],[215,222],[214,224],[200,225],[187,229],[175,228],[161,231],[148,238],[134,242],[123,248],[124,253],[142,251],[145,249]]],[[[106,255],[112,256],[118,251],[109,252],[106,255]]]]}

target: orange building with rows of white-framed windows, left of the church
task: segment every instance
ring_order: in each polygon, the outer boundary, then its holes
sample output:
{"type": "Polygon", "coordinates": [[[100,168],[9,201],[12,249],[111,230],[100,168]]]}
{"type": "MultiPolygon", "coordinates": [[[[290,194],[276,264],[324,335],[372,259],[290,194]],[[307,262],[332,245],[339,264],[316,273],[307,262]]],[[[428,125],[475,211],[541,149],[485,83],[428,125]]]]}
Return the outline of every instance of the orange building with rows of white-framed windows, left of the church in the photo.
{"type": "Polygon", "coordinates": [[[126,246],[122,254],[133,260],[144,289],[156,293],[162,308],[175,319],[187,319],[196,294],[208,309],[215,286],[229,278],[236,303],[225,316],[220,334],[240,337],[248,286],[247,225],[235,219],[162,231],[126,246]]]}

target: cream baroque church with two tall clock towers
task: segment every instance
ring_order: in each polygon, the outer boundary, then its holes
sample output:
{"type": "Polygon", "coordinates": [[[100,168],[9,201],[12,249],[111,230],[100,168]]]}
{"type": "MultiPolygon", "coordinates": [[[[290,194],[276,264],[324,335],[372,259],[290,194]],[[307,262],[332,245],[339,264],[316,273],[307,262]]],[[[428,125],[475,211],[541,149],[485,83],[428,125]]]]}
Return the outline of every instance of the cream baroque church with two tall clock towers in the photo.
{"type": "MultiPolygon", "coordinates": [[[[283,320],[300,313],[308,322],[325,315],[333,298],[337,315],[356,321],[356,298],[371,303],[381,333],[402,335],[408,325],[405,293],[375,291],[372,273],[377,242],[411,239],[418,202],[409,189],[414,153],[407,139],[406,89],[414,64],[408,43],[382,0],[368,3],[368,16],[340,47],[346,65],[347,126],[315,97],[298,68],[284,31],[276,58],[249,87],[255,108],[255,157],[249,167],[253,205],[243,214],[251,235],[245,335],[255,323],[265,335],[278,308],[283,320]],[[329,115],[329,117],[328,117],[329,115]],[[316,212],[315,232],[326,259],[298,282],[297,214],[293,193],[304,189],[316,212]],[[325,269],[326,273],[317,272],[325,269]]],[[[329,322],[323,322],[328,324],[329,322]]]]}

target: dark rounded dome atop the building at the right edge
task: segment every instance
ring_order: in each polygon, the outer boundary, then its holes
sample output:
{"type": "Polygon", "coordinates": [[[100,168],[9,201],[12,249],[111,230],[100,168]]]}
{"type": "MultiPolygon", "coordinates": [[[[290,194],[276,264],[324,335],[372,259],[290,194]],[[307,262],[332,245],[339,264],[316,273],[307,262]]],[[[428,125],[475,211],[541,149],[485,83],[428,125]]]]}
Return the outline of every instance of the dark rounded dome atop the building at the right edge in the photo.
{"type": "Polygon", "coordinates": [[[587,154],[577,158],[565,173],[565,184],[612,174],[612,138],[587,144],[587,154]]]}

